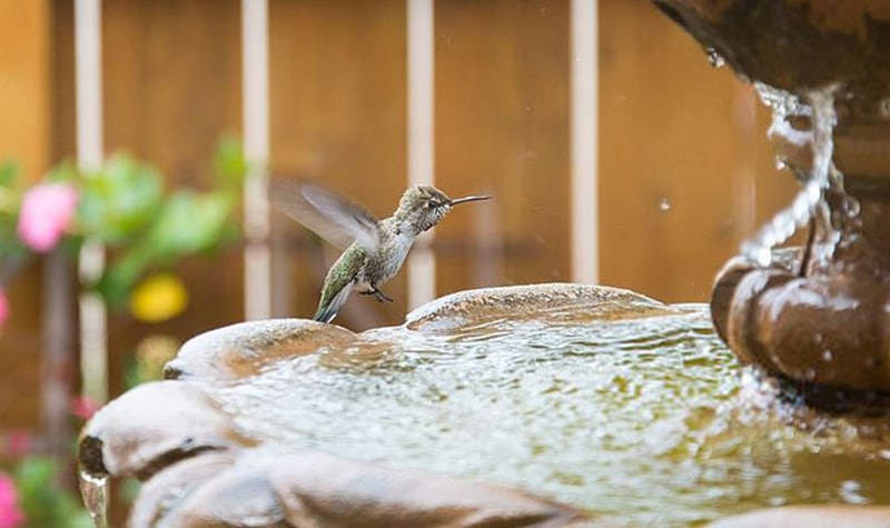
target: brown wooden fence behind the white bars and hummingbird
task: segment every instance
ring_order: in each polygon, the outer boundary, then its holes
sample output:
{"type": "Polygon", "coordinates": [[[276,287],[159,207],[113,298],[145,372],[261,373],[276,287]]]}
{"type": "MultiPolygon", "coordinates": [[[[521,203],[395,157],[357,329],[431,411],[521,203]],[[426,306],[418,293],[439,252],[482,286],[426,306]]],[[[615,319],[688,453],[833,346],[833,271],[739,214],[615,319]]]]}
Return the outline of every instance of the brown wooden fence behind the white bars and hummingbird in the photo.
{"type": "MultiPolygon", "coordinates": [[[[377,215],[392,211],[412,172],[409,1],[268,0],[271,171],[317,178],[377,215]]],[[[587,232],[599,282],[704,301],[721,263],[793,191],[792,178],[774,169],[768,116],[749,86],[711,67],[649,2],[601,0],[591,31],[599,31],[595,196],[573,201],[573,120],[584,117],[573,112],[572,2],[428,6],[435,182],[454,196],[495,196],[437,229],[436,295],[581,277],[573,243],[587,232]],[[593,208],[595,231],[572,225],[580,203],[593,208]]],[[[0,0],[0,157],[18,159],[32,179],[77,156],[75,7],[0,0]]],[[[237,0],[101,2],[105,152],[151,161],[170,186],[207,181],[217,138],[244,132],[241,12],[237,0]]],[[[271,312],[307,317],[333,255],[307,250],[285,218],[271,223],[271,312]]],[[[123,363],[146,333],[185,339],[243,320],[244,266],[243,248],[186,262],[191,305],[172,321],[149,328],[111,315],[111,393],[122,390],[123,363]]],[[[396,302],[354,299],[338,322],[398,323],[407,277],[387,285],[396,302]]],[[[40,288],[40,269],[9,286],[14,312],[0,338],[0,369],[14,381],[0,389],[6,427],[39,425],[40,288]]]]}

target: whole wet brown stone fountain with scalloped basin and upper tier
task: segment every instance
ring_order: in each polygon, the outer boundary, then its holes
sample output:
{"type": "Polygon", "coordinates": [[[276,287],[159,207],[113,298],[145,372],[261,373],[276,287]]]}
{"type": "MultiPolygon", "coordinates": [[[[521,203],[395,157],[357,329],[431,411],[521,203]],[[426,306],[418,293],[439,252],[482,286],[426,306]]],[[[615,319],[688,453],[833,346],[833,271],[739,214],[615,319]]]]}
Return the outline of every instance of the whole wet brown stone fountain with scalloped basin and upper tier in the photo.
{"type": "Polygon", "coordinates": [[[886,526],[890,2],[655,3],[761,83],[804,189],[710,313],[535,285],[197,336],[85,427],[97,526],[109,477],[132,528],[886,526]]]}

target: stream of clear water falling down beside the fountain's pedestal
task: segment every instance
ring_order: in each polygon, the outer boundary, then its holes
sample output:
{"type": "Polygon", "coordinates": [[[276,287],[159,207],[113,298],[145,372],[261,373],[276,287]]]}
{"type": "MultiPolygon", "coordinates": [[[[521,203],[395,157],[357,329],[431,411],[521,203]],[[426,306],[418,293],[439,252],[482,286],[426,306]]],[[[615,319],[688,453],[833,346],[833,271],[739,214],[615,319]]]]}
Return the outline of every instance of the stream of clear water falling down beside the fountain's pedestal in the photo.
{"type": "MultiPolygon", "coordinates": [[[[760,82],[754,83],[754,87],[763,103],[772,109],[772,123],[768,136],[781,135],[799,147],[812,143],[813,162],[809,176],[805,177],[803,189],[794,197],[791,206],[779,211],[753,238],[742,243],[742,255],[759,266],[770,266],[772,249],[791,238],[810,220],[814,220],[819,243],[813,247],[813,261],[825,262],[840,241],[840,232],[831,222],[825,192],[831,190],[844,196],[848,202],[846,208],[854,210],[854,200],[843,192],[843,175],[831,161],[834,152],[833,130],[837,123],[834,93],[839,86],[829,84],[807,92],[807,102],[793,93],[760,82]],[[812,129],[795,130],[789,124],[789,118],[795,117],[809,118],[812,129]]],[[[779,162],[784,165],[783,160],[779,162]]]]}

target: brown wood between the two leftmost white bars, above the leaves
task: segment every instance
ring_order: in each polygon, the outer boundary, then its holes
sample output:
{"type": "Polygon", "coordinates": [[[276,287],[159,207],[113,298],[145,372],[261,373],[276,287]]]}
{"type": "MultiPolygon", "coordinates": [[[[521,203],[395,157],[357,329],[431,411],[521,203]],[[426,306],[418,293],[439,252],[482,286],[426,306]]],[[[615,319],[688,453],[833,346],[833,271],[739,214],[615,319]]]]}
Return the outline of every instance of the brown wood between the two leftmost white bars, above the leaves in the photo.
{"type": "Polygon", "coordinates": [[[219,136],[240,129],[238,1],[106,0],[102,9],[106,150],[196,185],[219,136]]]}

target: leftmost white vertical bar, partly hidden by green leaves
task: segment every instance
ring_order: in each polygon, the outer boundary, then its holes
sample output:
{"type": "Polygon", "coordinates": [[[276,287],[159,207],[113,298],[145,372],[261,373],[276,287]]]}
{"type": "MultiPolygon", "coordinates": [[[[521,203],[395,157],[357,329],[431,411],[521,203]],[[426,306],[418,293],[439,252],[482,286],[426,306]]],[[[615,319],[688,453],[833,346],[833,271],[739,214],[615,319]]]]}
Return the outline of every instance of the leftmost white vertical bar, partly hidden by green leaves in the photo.
{"type": "MultiPolygon", "coordinates": [[[[102,133],[102,20],[100,0],[75,2],[75,60],[77,89],[77,160],[89,173],[101,167],[102,133]]],[[[85,240],[78,260],[81,283],[98,279],[105,269],[105,248],[85,240]]],[[[83,396],[96,402],[108,398],[108,315],[101,298],[81,293],[80,375],[83,396]]]]}

